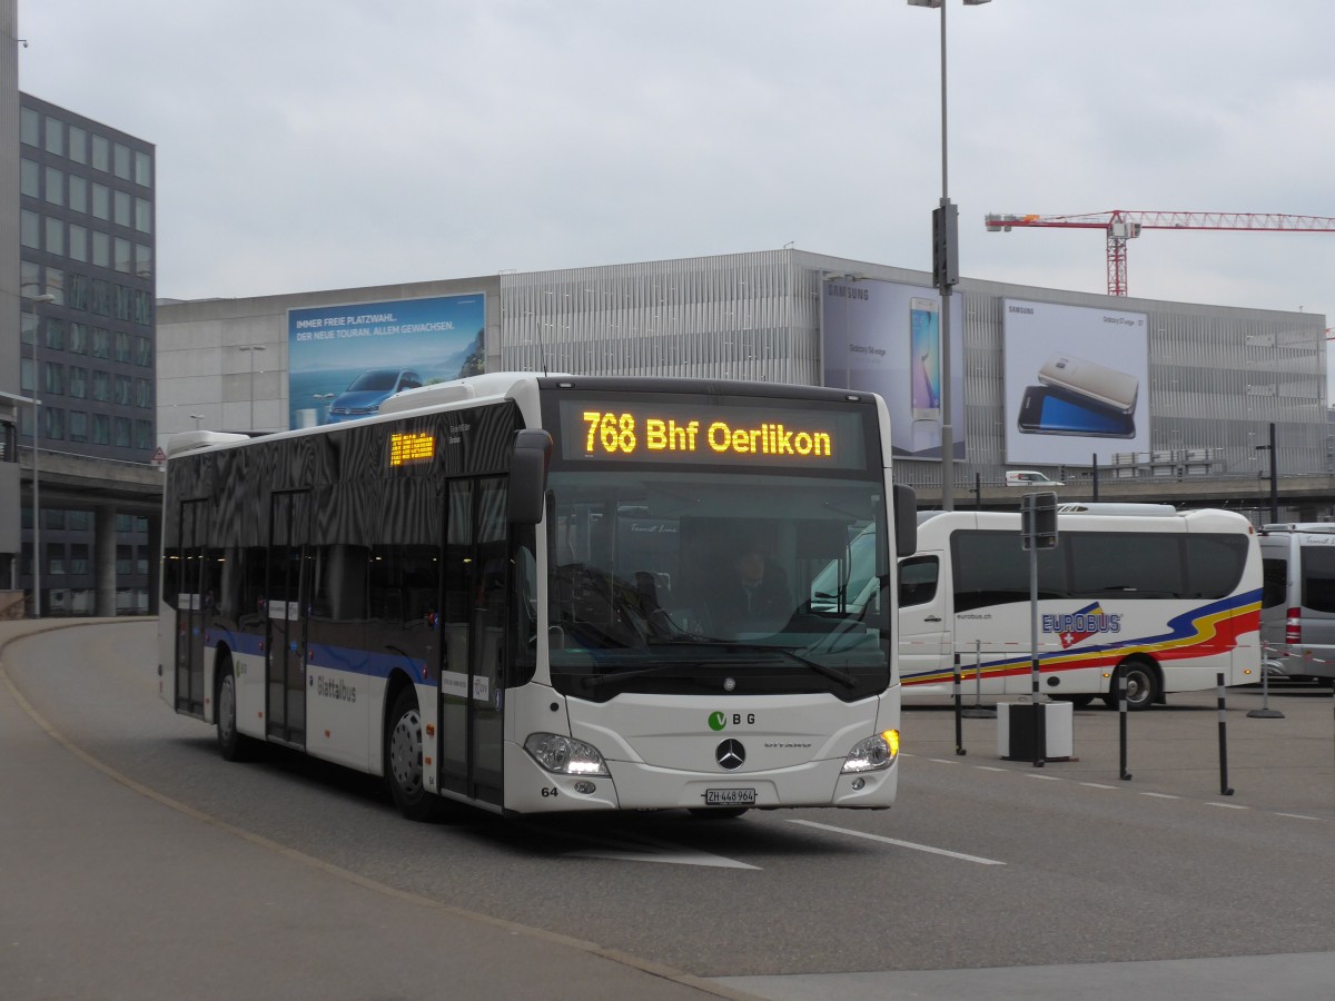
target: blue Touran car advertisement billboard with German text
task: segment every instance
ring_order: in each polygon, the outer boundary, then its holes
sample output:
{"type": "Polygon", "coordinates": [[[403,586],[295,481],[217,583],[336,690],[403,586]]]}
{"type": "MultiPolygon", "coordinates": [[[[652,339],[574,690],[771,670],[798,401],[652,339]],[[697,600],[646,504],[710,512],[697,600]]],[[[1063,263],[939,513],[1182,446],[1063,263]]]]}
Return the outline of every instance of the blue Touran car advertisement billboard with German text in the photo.
{"type": "Polygon", "coordinates": [[[287,312],[290,427],[368,416],[395,392],[483,371],[486,295],[287,312]]]}

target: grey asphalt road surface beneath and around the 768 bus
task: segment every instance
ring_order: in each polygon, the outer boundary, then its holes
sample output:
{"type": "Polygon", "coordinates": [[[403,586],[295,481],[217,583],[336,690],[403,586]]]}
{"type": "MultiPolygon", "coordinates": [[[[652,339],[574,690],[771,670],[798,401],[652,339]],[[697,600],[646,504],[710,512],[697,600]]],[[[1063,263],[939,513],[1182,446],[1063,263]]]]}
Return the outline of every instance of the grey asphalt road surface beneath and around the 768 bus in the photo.
{"type": "MultiPolygon", "coordinates": [[[[0,642],[28,623],[0,626],[0,642]]],[[[399,818],[158,698],[155,623],[0,649],[5,998],[1335,996],[1335,701],[1075,713],[1075,759],[906,699],[900,805],[399,818]]]]}

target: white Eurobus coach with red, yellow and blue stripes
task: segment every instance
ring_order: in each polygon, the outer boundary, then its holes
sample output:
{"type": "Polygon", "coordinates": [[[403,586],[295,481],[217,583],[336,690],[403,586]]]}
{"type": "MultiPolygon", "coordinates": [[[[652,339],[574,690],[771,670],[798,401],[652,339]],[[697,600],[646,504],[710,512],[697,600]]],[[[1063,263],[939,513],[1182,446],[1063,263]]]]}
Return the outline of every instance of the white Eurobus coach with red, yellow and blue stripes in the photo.
{"type": "MultiPolygon", "coordinates": [[[[1044,694],[1129,709],[1165,693],[1260,681],[1262,561],[1231,511],[1147,517],[1059,514],[1059,546],[1039,550],[1039,675],[1044,694]]],[[[941,513],[900,561],[905,693],[1028,694],[1033,642],[1029,553],[1020,515],[941,513]]]]}

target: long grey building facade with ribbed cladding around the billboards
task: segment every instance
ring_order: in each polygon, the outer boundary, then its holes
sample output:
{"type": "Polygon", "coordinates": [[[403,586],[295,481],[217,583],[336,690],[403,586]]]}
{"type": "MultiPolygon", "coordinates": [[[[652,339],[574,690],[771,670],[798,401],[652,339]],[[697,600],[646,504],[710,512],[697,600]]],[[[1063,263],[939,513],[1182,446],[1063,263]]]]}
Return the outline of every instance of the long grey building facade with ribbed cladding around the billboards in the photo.
{"type": "MultiPolygon", "coordinates": [[[[487,295],[489,368],[590,375],[740,378],[841,384],[822,352],[822,286],[832,278],[885,282],[930,295],[930,275],[800,250],[506,272],[453,282],[304,292],[263,299],[163,303],[159,310],[159,431],[276,430],[288,412],[288,310],[477,291],[487,295]],[[246,344],[263,351],[242,351],[246,344]],[[255,362],[255,359],[262,359],[255,362]],[[250,364],[259,371],[251,375],[250,364]],[[248,387],[254,379],[254,419],[248,387]],[[196,420],[190,415],[202,418],[196,420]]],[[[976,482],[1000,484],[1011,415],[1003,400],[1008,300],[1116,308],[1147,322],[1147,447],[1100,458],[1105,483],[1173,495],[1177,483],[1232,480],[1255,494],[1276,428],[1286,475],[1328,476],[1324,318],[1111,298],[964,279],[955,295],[963,331],[964,458],[956,503],[976,482]]],[[[837,320],[836,320],[837,322],[837,320]]],[[[1037,466],[1080,480],[1088,463],[1037,466]]],[[[896,476],[932,500],[941,463],[905,459],[896,476]]],[[[1144,491],[1143,491],[1144,492],[1144,491]]],[[[1302,509],[1324,517],[1320,502],[1302,509]]],[[[1299,514],[1295,507],[1290,514],[1299,514]]]]}

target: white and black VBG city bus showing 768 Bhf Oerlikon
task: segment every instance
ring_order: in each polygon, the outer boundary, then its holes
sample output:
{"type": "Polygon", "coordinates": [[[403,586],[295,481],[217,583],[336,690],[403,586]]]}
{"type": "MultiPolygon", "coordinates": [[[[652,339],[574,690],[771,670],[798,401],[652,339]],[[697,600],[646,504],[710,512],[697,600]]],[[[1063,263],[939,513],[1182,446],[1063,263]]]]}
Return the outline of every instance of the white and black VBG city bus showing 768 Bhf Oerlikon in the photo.
{"type": "Polygon", "coordinates": [[[163,697],[227,758],[383,775],[411,818],[888,807],[914,527],[889,440],[873,394],[531,374],[176,435],[163,697]],[[872,599],[813,605],[866,538],[872,599]],[[733,618],[744,541],[792,595],[777,619],[733,618]]]}

